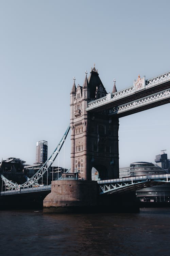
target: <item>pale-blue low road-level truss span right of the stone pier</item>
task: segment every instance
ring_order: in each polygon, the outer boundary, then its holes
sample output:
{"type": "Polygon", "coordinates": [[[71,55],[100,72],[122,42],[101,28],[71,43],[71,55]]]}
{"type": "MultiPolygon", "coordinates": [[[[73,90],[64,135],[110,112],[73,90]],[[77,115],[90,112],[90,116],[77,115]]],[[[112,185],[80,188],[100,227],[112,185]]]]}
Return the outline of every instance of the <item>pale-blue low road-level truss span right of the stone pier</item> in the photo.
{"type": "Polygon", "coordinates": [[[145,175],[126,177],[122,179],[98,181],[100,195],[124,193],[137,189],[160,185],[161,182],[170,182],[170,174],[145,175]]]}

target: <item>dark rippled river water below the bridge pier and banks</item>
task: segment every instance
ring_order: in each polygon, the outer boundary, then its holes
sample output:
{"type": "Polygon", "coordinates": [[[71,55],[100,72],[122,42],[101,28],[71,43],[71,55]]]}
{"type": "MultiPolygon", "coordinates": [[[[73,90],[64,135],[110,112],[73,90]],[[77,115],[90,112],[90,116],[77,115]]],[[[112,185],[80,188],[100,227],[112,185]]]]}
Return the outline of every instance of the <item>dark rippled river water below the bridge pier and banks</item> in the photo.
{"type": "Polygon", "coordinates": [[[135,214],[0,211],[1,256],[169,256],[170,208],[135,214]]]}

